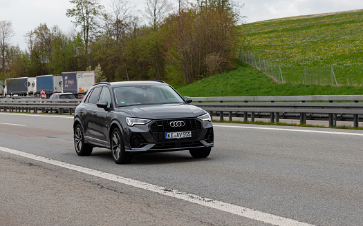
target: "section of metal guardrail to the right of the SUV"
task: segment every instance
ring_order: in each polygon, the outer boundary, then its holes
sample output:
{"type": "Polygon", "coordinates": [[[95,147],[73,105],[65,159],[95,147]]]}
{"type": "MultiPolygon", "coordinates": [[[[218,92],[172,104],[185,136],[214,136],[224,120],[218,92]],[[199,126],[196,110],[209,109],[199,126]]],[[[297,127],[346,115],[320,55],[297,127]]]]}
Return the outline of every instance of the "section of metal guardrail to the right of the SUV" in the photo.
{"type": "Polygon", "coordinates": [[[337,119],[353,121],[354,127],[358,127],[359,121],[363,121],[363,103],[358,103],[363,101],[363,95],[216,96],[194,97],[193,101],[198,102],[193,105],[202,107],[211,115],[219,115],[221,121],[224,119],[225,112],[228,114],[229,121],[232,121],[232,116],[243,116],[243,121],[248,121],[248,116],[251,121],[259,116],[269,117],[270,122],[274,123],[279,122],[280,117],[290,119],[297,115],[300,123],[306,123],[308,116],[310,120],[327,119],[329,126],[336,126],[337,119]],[[210,103],[212,101],[219,103],[210,103]],[[232,103],[225,103],[225,101],[232,103]],[[265,102],[261,103],[261,101],[265,102]],[[328,103],[308,103],[307,101],[328,103]],[[348,103],[333,103],[333,101],[348,103]]]}

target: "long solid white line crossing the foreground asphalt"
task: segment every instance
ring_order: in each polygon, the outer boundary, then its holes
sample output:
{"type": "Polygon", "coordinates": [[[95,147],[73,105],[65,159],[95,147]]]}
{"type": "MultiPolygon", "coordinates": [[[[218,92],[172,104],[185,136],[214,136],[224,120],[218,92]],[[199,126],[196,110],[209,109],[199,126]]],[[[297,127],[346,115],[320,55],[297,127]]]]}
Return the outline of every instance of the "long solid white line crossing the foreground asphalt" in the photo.
{"type": "Polygon", "coordinates": [[[78,165],[73,165],[73,164],[69,164],[69,163],[64,163],[61,161],[56,161],[50,158],[44,158],[41,156],[37,156],[34,154],[29,154],[26,152],[20,152],[17,150],[11,150],[9,148],[6,147],[0,147],[0,151],[2,152],[8,152],[10,154],[16,154],[18,156],[23,156],[26,158],[31,158],[34,159],[36,161],[41,161],[43,163],[49,163],[52,165],[57,165],[59,167],[64,167],[68,170],[74,170],[77,172],[82,172],[84,174],[89,174],[92,176],[97,176],[100,178],[104,178],[107,179],[109,181],[115,181],[118,183],[122,183],[124,185],[130,185],[133,187],[138,187],[140,189],[145,189],[147,191],[150,192],[156,192],[158,194],[163,194],[165,196],[170,196],[173,198],[178,198],[180,200],[183,201],[188,201],[190,203],[196,203],[199,205],[203,205],[205,207],[211,207],[213,209],[219,209],[223,212],[229,212],[231,214],[235,214],[235,215],[239,215],[239,216],[243,216],[245,218],[250,218],[253,220],[259,220],[261,222],[264,223],[270,223],[272,225],[281,225],[281,226],[287,226],[287,225],[295,225],[295,226],[313,226],[310,225],[308,223],[303,223],[297,220],[292,220],[289,218],[284,218],[281,216],[276,216],[273,214],[266,214],[263,212],[259,212],[257,210],[254,209],[250,209],[247,207],[241,207],[239,205],[233,205],[230,203],[225,203],[225,202],[221,202],[221,201],[217,201],[211,198],[205,198],[203,196],[197,196],[195,194],[189,194],[186,192],[180,192],[178,190],[175,189],[169,189],[167,187],[161,187],[159,185],[153,185],[150,183],[145,183],[142,181],[136,181],[133,180],[131,178],[125,178],[123,176],[118,176],[115,174],[109,174],[106,172],[101,172],[98,170],[92,170],[86,167],[82,167],[82,166],[78,166],[78,165]]]}

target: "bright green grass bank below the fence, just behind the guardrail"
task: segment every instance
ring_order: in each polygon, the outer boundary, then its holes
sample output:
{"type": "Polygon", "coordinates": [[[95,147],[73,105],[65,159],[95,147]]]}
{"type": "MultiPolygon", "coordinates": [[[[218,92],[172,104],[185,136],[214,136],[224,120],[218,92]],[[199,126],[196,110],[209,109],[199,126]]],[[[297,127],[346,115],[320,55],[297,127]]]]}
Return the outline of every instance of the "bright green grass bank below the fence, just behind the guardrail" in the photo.
{"type": "Polygon", "coordinates": [[[357,95],[363,88],[354,86],[278,84],[259,70],[245,63],[223,74],[177,88],[183,96],[297,96],[357,95]]]}

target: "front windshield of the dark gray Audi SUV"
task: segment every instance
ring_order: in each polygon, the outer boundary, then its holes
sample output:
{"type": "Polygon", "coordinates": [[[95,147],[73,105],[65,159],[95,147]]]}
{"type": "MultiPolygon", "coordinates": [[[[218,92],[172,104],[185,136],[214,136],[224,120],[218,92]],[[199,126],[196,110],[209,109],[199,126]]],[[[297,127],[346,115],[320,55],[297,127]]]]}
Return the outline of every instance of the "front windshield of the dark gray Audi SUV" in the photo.
{"type": "Polygon", "coordinates": [[[133,85],[113,88],[118,107],[160,103],[184,103],[169,85],[133,85]]]}

